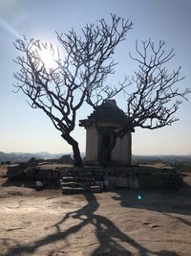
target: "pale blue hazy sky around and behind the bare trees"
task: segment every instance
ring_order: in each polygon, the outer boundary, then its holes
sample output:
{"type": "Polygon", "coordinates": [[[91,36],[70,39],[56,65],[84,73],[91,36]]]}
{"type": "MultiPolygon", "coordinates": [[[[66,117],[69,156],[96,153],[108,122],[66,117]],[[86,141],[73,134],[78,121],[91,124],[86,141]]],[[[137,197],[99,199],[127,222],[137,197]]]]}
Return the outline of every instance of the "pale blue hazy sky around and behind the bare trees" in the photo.
{"type": "MultiPolygon", "coordinates": [[[[12,58],[16,50],[12,42],[19,35],[56,42],[54,32],[79,31],[86,23],[110,18],[110,13],[129,18],[134,23],[116,52],[117,73],[108,82],[132,75],[137,64],[129,57],[135,41],[152,38],[166,41],[166,49],[174,48],[176,57],[168,63],[169,70],[182,67],[186,76],[180,87],[191,87],[191,1],[190,0],[0,0],[0,151],[68,152],[71,147],[61,138],[48,117],[32,109],[21,92],[12,93],[12,73],[17,70],[12,58]]],[[[123,96],[121,96],[123,97],[123,96]]],[[[179,122],[157,130],[137,128],[133,133],[133,153],[191,153],[191,97],[180,105],[179,122]]],[[[125,101],[117,98],[124,111],[125,101]]],[[[84,119],[91,108],[80,109],[84,119]]],[[[85,129],[78,128],[74,137],[85,151],[85,129]]]]}

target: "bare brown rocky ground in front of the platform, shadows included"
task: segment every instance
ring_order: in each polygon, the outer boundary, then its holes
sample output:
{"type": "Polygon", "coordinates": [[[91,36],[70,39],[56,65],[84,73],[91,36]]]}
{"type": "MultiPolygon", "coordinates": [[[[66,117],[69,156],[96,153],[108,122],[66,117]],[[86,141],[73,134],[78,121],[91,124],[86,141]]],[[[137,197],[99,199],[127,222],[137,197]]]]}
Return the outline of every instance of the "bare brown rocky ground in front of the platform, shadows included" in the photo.
{"type": "Polygon", "coordinates": [[[63,196],[0,177],[0,255],[189,256],[191,174],[184,181],[179,191],[63,196]]]}

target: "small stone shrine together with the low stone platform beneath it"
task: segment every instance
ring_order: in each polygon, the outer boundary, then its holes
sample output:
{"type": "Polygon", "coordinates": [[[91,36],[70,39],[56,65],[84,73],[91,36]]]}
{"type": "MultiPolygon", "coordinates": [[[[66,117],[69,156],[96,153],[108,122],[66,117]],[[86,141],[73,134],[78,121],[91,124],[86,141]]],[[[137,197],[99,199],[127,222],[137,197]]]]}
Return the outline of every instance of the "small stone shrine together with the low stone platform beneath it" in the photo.
{"type": "MultiPolygon", "coordinates": [[[[106,101],[81,120],[86,128],[86,162],[83,167],[60,167],[42,163],[21,163],[8,168],[7,177],[35,181],[36,190],[49,184],[61,187],[63,194],[100,193],[116,188],[180,188],[182,177],[171,167],[131,165],[131,119],[117,107],[114,100],[106,101]]],[[[62,157],[67,163],[70,156],[62,157]]]]}

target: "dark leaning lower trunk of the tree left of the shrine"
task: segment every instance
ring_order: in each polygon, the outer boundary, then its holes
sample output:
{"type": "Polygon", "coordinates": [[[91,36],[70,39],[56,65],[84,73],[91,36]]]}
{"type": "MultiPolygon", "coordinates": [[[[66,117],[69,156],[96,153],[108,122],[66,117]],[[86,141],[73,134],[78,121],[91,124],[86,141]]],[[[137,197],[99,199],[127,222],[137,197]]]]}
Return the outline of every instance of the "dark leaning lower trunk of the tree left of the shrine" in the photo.
{"type": "Polygon", "coordinates": [[[75,166],[83,166],[83,161],[81,159],[78,143],[74,140],[73,137],[70,135],[61,135],[62,138],[67,141],[72,147],[73,147],[73,152],[74,152],[74,165],[75,166]]]}

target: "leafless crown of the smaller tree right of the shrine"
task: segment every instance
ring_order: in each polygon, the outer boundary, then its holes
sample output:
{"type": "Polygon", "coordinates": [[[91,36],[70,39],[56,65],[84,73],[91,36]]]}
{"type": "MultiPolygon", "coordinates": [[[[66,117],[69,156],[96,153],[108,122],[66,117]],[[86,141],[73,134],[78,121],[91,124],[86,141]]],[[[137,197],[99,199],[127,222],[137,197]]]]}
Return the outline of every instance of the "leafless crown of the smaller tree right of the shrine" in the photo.
{"type": "Polygon", "coordinates": [[[130,57],[138,62],[139,70],[135,72],[133,82],[136,90],[128,95],[128,128],[162,128],[178,121],[174,116],[182,103],[187,100],[190,89],[180,91],[176,86],[184,78],[178,70],[169,73],[165,63],[174,57],[174,50],[164,51],[164,41],[156,47],[151,40],[142,41],[142,48],[136,43],[137,56],[130,57]]]}

